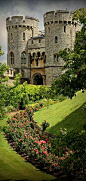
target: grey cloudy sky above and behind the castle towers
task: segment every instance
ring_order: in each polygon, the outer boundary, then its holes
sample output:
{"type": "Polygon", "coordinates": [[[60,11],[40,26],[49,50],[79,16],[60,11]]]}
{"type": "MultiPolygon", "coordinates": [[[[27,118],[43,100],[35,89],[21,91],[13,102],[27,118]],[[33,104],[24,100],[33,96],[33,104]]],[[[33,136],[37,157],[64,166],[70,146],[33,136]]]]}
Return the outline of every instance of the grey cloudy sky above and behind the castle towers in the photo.
{"type": "Polygon", "coordinates": [[[66,8],[73,11],[81,7],[86,9],[86,0],[0,0],[0,45],[5,53],[0,57],[0,62],[7,61],[7,17],[14,15],[35,17],[40,21],[40,30],[43,30],[44,13],[66,8]]]}

